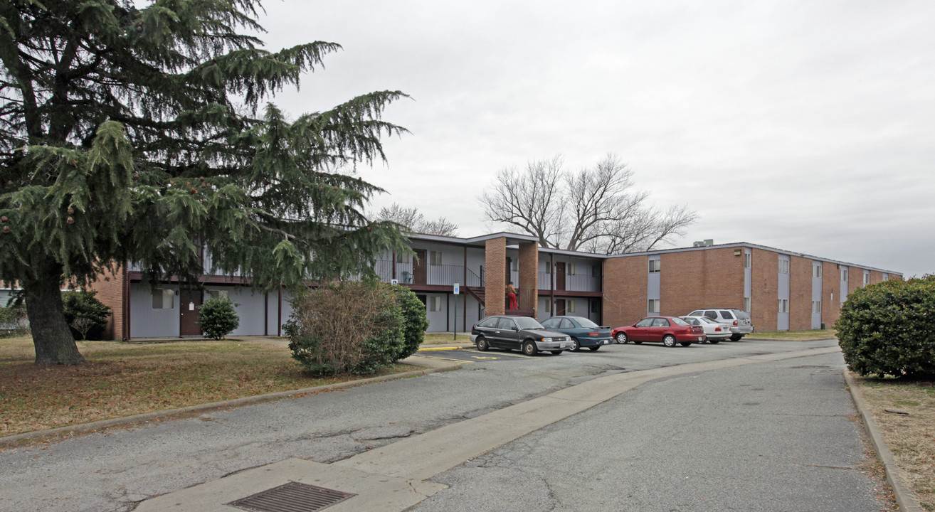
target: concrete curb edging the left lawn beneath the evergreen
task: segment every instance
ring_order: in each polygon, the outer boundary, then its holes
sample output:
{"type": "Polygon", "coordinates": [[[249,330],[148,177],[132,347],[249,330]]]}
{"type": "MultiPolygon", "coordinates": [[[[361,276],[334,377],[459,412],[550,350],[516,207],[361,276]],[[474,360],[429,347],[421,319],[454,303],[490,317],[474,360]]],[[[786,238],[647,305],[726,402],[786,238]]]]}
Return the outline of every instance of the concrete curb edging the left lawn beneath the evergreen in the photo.
{"type": "MultiPolygon", "coordinates": [[[[418,358],[422,359],[422,358],[418,358]]],[[[200,405],[189,405],[187,407],[179,407],[175,409],[165,409],[161,411],[152,411],[146,412],[143,414],[137,414],[134,416],[125,416],[122,418],[112,418],[110,420],[98,420],[91,421],[90,423],[81,423],[79,425],[69,425],[66,427],[58,427],[48,430],[39,430],[36,432],[25,432],[22,434],[7,435],[6,437],[0,437],[0,449],[7,448],[17,448],[27,444],[33,444],[42,441],[51,441],[65,439],[68,437],[74,437],[77,435],[83,434],[94,434],[95,432],[111,429],[114,427],[122,427],[127,425],[132,425],[135,423],[143,423],[149,421],[158,421],[158,420],[168,420],[176,416],[185,416],[185,415],[196,415],[203,414],[206,412],[216,411],[220,409],[228,409],[233,407],[242,407],[244,405],[254,405],[262,404],[264,402],[272,402],[274,400],[281,400],[283,398],[290,398],[296,395],[308,394],[320,391],[331,391],[339,390],[344,388],[354,388],[357,386],[363,386],[365,384],[372,384],[374,382],[385,382],[388,380],[396,380],[399,378],[408,378],[408,377],[421,377],[428,374],[434,374],[438,372],[447,372],[451,370],[456,370],[461,367],[463,363],[454,363],[454,362],[436,362],[436,361],[410,361],[409,359],[403,360],[400,363],[414,364],[417,366],[425,366],[424,370],[412,370],[411,372],[404,372],[401,374],[386,375],[381,377],[370,377],[362,378],[360,380],[350,380],[348,382],[338,382],[337,384],[325,384],[324,386],[314,386],[311,388],[303,388],[301,390],[292,390],[292,391],[278,391],[273,393],[258,394],[254,396],[244,396],[242,398],[235,398],[233,400],[225,400],[223,402],[212,402],[210,404],[200,404],[200,405]]]]}

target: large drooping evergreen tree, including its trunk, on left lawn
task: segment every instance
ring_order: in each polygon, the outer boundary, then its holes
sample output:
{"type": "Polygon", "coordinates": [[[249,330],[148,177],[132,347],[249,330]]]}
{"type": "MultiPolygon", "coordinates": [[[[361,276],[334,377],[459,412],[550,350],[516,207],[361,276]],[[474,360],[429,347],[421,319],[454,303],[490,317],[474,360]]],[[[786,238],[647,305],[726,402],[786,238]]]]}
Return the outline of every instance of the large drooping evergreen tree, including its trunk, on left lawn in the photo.
{"type": "Polygon", "coordinates": [[[368,268],[402,247],[364,212],[401,92],[295,120],[267,98],[334,43],[278,52],[256,0],[0,3],[0,279],[17,281],[36,363],[81,363],[59,290],[130,261],[151,279],[215,272],[272,288],[368,268]]]}

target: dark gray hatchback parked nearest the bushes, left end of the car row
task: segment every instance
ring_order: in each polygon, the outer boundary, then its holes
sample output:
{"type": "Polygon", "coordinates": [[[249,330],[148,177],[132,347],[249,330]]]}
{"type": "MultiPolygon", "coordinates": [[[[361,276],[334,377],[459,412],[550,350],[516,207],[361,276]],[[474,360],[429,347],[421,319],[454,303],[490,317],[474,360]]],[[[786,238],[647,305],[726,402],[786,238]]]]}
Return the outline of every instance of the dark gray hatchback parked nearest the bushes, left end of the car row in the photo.
{"type": "Polygon", "coordinates": [[[557,355],[571,348],[571,340],[566,334],[547,331],[536,319],[529,317],[487,317],[471,327],[470,338],[478,350],[522,349],[527,356],[534,356],[539,350],[557,355]]]}

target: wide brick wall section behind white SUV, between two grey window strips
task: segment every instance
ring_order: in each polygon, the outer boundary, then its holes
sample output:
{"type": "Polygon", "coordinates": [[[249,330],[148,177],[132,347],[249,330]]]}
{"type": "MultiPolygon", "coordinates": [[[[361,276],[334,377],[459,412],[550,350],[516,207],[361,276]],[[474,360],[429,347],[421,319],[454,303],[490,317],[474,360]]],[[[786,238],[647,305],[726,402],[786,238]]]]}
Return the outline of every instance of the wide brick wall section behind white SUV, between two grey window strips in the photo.
{"type": "Polygon", "coordinates": [[[701,307],[743,308],[743,253],[734,248],[660,256],[660,313],[681,316],[701,307]]]}

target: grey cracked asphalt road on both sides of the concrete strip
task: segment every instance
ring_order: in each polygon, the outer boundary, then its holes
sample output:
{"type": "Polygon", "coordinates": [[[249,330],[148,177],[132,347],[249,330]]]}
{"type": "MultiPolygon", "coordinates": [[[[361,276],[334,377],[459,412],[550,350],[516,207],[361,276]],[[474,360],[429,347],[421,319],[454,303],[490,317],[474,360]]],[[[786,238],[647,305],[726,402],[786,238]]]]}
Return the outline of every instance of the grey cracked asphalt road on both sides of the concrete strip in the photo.
{"type": "MultiPolygon", "coordinates": [[[[132,510],[291,457],[337,462],[610,373],[833,345],[500,354],[455,372],[7,449],[0,510],[132,510]]],[[[841,369],[832,354],[650,382],[435,476],[452,488],[416,510],[879,510],[875,483],[856,470],[864,455],[841,369]]]]}

